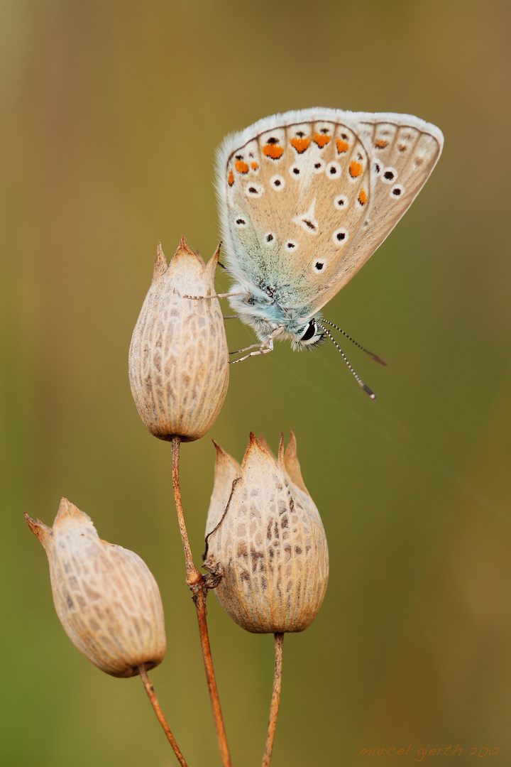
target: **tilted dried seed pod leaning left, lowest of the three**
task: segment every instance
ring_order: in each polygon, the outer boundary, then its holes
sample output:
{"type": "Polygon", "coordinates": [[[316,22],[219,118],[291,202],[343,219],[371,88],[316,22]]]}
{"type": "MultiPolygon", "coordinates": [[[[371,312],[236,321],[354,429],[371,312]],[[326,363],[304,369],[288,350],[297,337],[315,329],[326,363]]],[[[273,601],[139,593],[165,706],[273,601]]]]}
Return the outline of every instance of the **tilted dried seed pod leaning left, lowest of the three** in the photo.
{"type": "Polygon", "coordinates": [[[47,553],[55,610],[70,640],[112,676],[165,657],[162,597],[133,551],[102,541],[90,517],[61,500],[53,528],[25,519],[47,553]]]}

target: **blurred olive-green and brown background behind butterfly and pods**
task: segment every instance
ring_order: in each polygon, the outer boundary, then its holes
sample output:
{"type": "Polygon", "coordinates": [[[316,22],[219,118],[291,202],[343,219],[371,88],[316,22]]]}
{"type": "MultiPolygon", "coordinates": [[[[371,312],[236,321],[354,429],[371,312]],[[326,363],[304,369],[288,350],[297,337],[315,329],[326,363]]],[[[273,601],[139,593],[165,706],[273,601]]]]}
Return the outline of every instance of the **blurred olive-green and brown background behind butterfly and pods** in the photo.
{"type": "MultiPolygon", "coordinates": [[[[507,0],[2,0],[2,765],[176,763],[139,680],[100,673],[57,621],[22,512],[51,525],[61,495],[156,575],[169,650],[152,681],[190,767],[220,764],[170,446],[139,420],[127,354],[157,242],[215,249],[222,137],[313,106],[445,134],[417,202],[326,311],[389,366],[345,344],[374,403],[331,344],[235,366],[211,433],[182,448],[192,547],[209,438],[241,459],[250,430],[276,449],[294,429],[331,575],[284,643],[273,764],[358,767],[361,749],[409,744],[373,761],[459,744],[457,765],[474,748],[511,764],[510,17],[507,0]]],[[[228,337],[251,331],[231,321],[228,337]]],[[[214,596],[209,617],[234,765],[252,767],[273,639],[214,596]]]]}

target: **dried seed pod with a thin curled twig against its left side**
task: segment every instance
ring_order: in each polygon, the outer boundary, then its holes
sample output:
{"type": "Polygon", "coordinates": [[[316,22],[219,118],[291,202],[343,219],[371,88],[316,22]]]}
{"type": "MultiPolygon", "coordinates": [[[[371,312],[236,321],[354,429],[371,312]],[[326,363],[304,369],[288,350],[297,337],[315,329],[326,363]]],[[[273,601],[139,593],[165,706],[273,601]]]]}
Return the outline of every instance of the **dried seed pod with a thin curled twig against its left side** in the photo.
{"type": "Polygon", "coordinates": [[[328,547],[303,484],[291,433],[276,460],[251,433],[241,466],[215,443],[215,486],[206,524],[205,569],[223,572],[215,589],[247,631],[302,631],[328,582],[328,547]]]}

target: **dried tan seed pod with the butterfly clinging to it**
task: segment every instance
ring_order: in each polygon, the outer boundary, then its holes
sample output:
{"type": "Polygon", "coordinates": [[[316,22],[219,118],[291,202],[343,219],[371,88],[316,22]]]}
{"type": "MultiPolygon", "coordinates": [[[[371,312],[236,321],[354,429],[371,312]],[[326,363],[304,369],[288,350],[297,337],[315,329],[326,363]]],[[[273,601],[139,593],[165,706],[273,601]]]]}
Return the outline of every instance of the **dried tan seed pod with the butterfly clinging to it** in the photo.
{"type": "Polygon", "coordinates": [[[136,409],[159,439],[200,439],[215,423],[229,383],[229,354],[215,294],[219,248],[206,266],[184,237],[169,265],[158,246],[152,284],[129,347],[136,409]]]}

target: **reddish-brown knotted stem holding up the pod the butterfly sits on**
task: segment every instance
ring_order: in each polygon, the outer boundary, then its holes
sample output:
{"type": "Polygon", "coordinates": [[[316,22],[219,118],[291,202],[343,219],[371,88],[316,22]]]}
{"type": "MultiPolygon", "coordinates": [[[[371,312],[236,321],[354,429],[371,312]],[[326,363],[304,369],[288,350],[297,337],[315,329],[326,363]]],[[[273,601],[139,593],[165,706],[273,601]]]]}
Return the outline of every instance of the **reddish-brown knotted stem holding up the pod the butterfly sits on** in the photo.
{"type": "Polygon", "coordinates": [[[186,582],[192,590],[193,601],[197,611],[198,630],[201,637],[202,657],[208,680],[208,690],[211,699],[211,708],[215,718],[215,727],[218,736],[218,746],[220,747],[221,760],[223,767],[232,767],[231,755],[227,736],[225,733],[224,719],[221,715],[220,700],[218,698],[218,688],[215,680],[215,671],[213,669],[213,660],[211,658],[211,647],[209,644],[208,624],[206,622],[206,594],[208,588],[201,573],[195,567],[192,558],[192,549],[188,542],[188,533],[186,532],[185,515],[183,514],[181,502],[181,489],[179,487],[179,445],[181,440],[179,436],[172,437],[172,486],[174,487],[175,508],[178,512],[179,531],[183,548],[185,550],[186,562],[186,582]]]}

